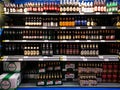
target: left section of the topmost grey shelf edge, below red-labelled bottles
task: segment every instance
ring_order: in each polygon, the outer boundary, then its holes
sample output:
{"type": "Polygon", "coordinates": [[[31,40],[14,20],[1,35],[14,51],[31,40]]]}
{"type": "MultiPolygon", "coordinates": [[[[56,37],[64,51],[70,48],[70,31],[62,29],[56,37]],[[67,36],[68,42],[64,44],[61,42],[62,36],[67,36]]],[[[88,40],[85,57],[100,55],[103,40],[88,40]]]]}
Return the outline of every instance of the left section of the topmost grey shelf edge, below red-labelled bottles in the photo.
{"type": "Polygon", "coordinates": [[[47,12],[25,12],[25,13],[20,13],[20,12],[16,12],[16,13],[3,13],[5,15],[59,15],[59,13],[47,13],[47,12]]]}

